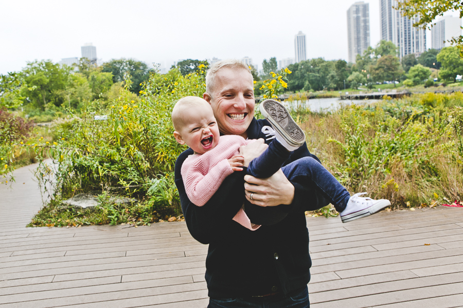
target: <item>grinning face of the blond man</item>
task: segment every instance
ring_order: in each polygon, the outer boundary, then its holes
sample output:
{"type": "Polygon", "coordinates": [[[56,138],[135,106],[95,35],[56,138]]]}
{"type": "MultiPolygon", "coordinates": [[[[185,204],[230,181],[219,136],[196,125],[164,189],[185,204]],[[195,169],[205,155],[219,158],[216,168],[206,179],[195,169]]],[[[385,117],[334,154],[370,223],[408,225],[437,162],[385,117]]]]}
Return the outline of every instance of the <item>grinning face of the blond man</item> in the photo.
{"type": "Polygon", "coordinates": [[[247,138],[247,128],[254,117],[253,76],[245,69],[221,68],[216,74],[213,98],[206,98],[224,134],[247,138]]]}

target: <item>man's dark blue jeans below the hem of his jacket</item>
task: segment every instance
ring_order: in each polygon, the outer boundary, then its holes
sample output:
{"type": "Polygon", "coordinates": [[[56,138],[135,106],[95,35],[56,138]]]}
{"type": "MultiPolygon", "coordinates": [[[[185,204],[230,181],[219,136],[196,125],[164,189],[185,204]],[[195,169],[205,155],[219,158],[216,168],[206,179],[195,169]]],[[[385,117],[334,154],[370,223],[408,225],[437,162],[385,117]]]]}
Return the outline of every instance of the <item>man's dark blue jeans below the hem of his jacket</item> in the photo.
{"type": "Polygon", "coordinates": [[[210,298],[207,308],[310,308],[309,291],[306,286],[287,297],[210,298]]]}

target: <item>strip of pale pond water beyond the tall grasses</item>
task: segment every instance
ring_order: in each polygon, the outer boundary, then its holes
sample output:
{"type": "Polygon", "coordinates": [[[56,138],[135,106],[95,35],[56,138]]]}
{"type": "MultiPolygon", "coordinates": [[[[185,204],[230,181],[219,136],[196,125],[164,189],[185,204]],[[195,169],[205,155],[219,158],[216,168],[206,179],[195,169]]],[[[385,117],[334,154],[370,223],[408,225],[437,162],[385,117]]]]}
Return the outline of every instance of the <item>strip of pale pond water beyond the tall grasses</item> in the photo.
{"type": "Polygon", "coordinates": [[[347,105],[365,105],[365,104],[371,104],[371,103],[376,103],[379,100],[340,100],[339,98],[331,98],[331,99],[310,99],[305,102],[301,101],[293,101],[293,102],[288,102],[285,101],[284,106],[286,106],[289,109],[293,108],[309,108],[311,111],[314,112],[327,112],[327,111],[334,111],[341,106],[347,106],[347,105]]]}

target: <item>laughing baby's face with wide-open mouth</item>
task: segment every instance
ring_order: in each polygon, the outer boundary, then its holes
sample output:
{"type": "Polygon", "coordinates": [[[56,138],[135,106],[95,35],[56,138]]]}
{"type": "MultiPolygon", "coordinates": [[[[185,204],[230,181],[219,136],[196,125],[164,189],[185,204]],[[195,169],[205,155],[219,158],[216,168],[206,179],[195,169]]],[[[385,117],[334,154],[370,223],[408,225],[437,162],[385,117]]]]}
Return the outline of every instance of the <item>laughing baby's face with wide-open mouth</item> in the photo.
{"type": "Polygon", "coordinates": [[[196,154],[204,154],[215,148],[219,143],[220,133],[212,108],[195,107],[189,110],[186,118],[177,141],[180,144],[186,143],[196,154]]]}

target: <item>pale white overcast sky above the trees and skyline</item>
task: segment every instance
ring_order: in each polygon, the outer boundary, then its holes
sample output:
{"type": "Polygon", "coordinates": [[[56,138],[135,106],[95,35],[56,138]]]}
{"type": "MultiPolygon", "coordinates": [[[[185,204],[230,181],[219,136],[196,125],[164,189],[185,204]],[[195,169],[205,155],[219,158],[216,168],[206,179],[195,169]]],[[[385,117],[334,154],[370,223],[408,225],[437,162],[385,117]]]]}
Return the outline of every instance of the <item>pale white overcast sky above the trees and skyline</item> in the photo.
{"type": "MultiPolygon", "coordinates": [[[[170,67],[181,59],[294,57],[294,35],[307,35],[307,57],[347,59],[347,9],[355,1],[0,0],[0,73],[27,62],[80,57],[85,43],[100,62],[121,57],[170,67]]],[[[379,0],[370,10],[370,43],[380,40],[379,0]]],[[[427,34],[430,47],[430,33],[427,34]]]]}

